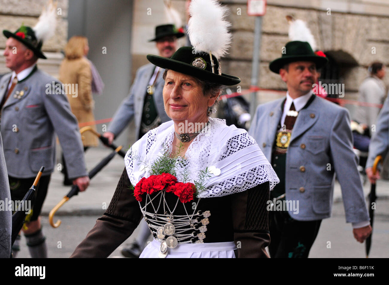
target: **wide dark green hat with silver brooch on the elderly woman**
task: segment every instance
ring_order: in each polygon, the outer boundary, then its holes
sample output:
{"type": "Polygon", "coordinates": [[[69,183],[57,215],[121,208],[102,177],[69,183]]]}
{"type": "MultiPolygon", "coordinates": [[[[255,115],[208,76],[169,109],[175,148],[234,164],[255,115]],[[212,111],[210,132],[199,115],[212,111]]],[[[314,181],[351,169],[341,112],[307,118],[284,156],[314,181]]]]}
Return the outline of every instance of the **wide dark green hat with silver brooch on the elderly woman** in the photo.
{"type": "Polygon", "coordinates": [[[215,65],[215,73],[213,73],[209,54],[193,53],[192,51],[192,47],[180,47],[171,58],[147,54],[147,59],[153,65],[161,68],[174,70],[218,84],[232,86],[240,82],[239,77],[221,73],[221,67],[219,71],[219,61],[215,56],[212,55],[215,65]]]}

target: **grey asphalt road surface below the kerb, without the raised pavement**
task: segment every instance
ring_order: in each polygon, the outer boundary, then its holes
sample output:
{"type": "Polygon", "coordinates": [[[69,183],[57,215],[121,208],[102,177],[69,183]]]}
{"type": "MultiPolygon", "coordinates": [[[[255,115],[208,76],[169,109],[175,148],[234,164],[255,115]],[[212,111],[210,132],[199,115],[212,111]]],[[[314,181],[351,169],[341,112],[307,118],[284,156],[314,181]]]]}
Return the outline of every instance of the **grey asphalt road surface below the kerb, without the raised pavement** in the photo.
{"type": "MultiPolygon", "coordinates": [[[[380,200],[377,203],[377,212],[385,209],[386,213],[375,217],[373,243],[371,246],[370,257],[389,257],[389,200],[380,200]]],[[[67,258],[74,248],[82,241],[88,231],[95,224],[99,216],[61,216],[62,224],[54,229],[49,225],[47,217],[43,218],[44,233],[47,236],[47,245],[49,247],[49,257],[67,258]],[[61,248],[58,248],[61,242],[61,248]]],[[[128,238],[110,257],[123,257],[120,254],[124,245],[133,241],[137,232],[128,238]]],[[[22,237],[21,251],[18,257],[30,257],[25,245],[25,238],[22,237]]],[[[352,236],[350,224],[346,224],[343,205],[336,203],[333,207],[331,218],[323,220],[317,239],[311,249],[309,257],[352,257],[364,258],[364,244],[358,243],[352,236]],[[328,241],[331,241],[331,248],[327,248],[328,241]]]]}

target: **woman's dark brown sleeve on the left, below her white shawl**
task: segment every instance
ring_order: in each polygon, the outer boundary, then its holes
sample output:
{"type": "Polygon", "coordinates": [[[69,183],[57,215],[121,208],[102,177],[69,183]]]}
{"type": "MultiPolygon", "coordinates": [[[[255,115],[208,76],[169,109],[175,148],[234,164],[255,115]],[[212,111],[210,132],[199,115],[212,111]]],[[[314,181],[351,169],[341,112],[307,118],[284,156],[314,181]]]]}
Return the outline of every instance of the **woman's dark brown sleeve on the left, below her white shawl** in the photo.
{"type": "Polygon", "coordinates": [[[95,226],[75,248],[71,258],[108,257],[133,233],[143,215],[138,201],[128,189],[130,184],[124,168],[107,212],[97,219],[95,226]]]}

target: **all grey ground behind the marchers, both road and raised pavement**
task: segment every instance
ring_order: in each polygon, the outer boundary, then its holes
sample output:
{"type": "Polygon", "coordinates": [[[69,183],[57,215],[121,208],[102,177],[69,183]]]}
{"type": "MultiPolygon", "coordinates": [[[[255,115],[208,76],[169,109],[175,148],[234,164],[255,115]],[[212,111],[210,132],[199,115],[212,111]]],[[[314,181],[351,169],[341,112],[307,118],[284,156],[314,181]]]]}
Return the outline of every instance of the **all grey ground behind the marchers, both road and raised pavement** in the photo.
{"type": "MultiPolygon", "coordinates": [[[[97,164],[102,157],[108,155],[109,149],[92,149],[86,153],[88,169],[97,164]]],[[[54,217],[61,219],[60,227],[54,229],[49,225],[48,213],[69,191],[69,186],[62,185],[63,176],[59,171],[52,175],[49,194],[43,207],[43,229],[47,236],[49,257],[67,258],[74,248],[84,239],[88,231],[93,227],[95,221],[109,205],[112,194],[115,191],[117,181],[123,171],[124,162],[116,156],[110,164],[98,173],[86,192],[70,199],[54,217]]],[[[364,192],[367,195],[370,185],[366,184],[364,192]]],[[[383,197],[377,201],[375,213],[375,224],[373,230],[373,243],[370,257],[389,257],[389,182],[380,181],[377,184],[377,195],[383,197]],[[385,198],[386,197],[386,198],[385,198]]],[[[340,187],[337,184],[334,192],[335,204],[332,217],[322,221],[318,237],[310,252],[310,257],[365,257],[364,244],[358,243],[352,235],[352,227],[346,224],[343,203],[341,203],[340,187]],[[328,241],[331,248],[327,248],[328,241]]],[[[110,257],[122,257],[121,248],[130,243],[137,232],[128,238],[110,257]]],[[[29,257],[25,245],[25,238],[22,236],[21,251],[18,257],[29,257]]]]}

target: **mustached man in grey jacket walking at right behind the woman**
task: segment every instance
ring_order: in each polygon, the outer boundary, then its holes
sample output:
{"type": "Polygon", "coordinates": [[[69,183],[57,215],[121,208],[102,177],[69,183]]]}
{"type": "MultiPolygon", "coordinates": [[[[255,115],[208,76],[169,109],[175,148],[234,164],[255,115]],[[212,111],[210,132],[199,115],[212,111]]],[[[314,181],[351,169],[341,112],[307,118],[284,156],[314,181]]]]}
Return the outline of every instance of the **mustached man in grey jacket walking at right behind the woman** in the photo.
{"type": "Polygon", "coordinates": [[[286,97],[259,105],[249,134],[280,178],[268,209],[270,257],[299,258],[308,257],[321,220],[331,215],[335,173],[356,240],[362,243],[371,227],[349,113],[312,93],[317,68],[327,59],[308,42],[288,42],[285,48],[269,68],[286,82],[286,97]]]}

